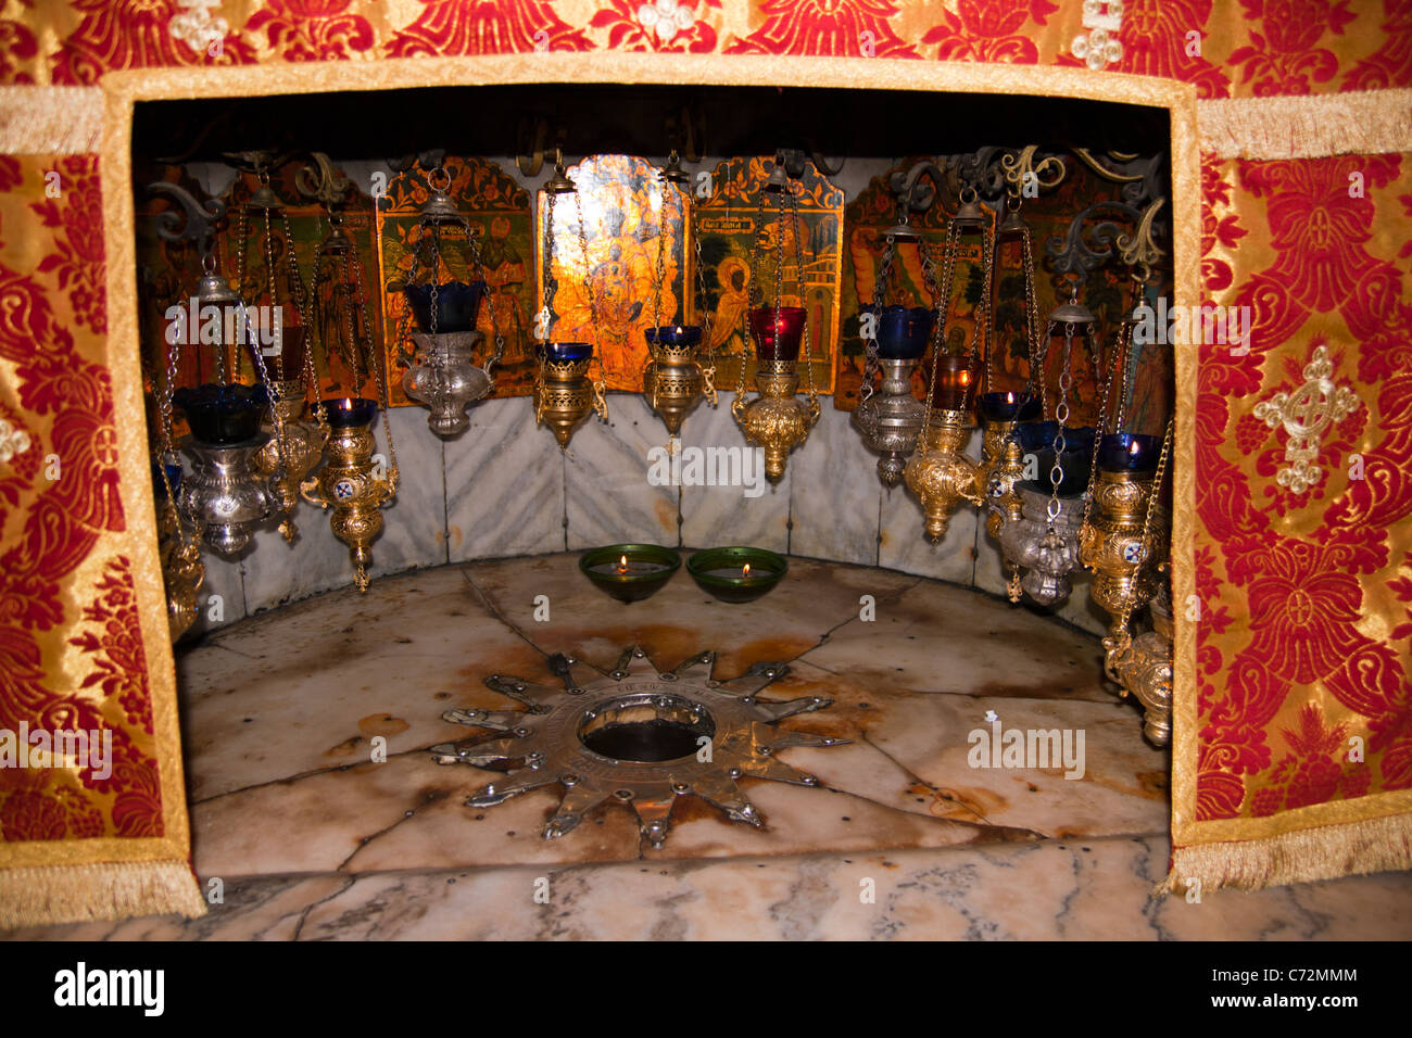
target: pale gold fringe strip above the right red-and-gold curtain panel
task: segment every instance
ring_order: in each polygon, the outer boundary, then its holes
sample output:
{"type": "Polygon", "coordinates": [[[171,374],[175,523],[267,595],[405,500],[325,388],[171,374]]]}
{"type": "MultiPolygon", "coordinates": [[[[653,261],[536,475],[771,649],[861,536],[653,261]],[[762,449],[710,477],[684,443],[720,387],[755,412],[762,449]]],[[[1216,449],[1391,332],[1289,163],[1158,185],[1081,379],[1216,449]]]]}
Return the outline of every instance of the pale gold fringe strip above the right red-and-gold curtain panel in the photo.
{"type": "Polygon", "coordinates": [[[1196,102],[1217,158],[1323,158],[1412,151],[1412,89],[1196,102]]]}

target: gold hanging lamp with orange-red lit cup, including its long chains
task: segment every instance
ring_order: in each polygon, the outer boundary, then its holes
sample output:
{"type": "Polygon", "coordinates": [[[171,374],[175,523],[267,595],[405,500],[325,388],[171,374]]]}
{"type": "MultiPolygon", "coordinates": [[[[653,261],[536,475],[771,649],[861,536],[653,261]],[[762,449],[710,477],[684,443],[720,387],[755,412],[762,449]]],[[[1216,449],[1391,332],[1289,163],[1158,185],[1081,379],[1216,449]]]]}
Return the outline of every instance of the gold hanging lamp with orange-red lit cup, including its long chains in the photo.
{"type": "Polygon", "coordinates": [[[981,234],[981,302],[976,314],[971,333],[971,353],[955,356],[933,352],[931,388],[926,398],[926,418],[919,436],[918,451],[904,470],[907,487],[922,504],[926,537],[936,544],[946,535],[950,514],[962,501],[984,506],[984,484],[981,467],[966,456],[966,442],[970,439],[974,422],[971,419],[971,394],[976,390],[974,364],[980,356],[988,362],[987,342],[990,284],[994,260],[993,229],[981,209],[973,186],[962,189],[960,208],[946,225],[946,239],[942,246],[942,281],[938,292],[936,349],[945,342],[945,316],[956,273],[956,253],[960,249],[963,230],[981,234]]]}

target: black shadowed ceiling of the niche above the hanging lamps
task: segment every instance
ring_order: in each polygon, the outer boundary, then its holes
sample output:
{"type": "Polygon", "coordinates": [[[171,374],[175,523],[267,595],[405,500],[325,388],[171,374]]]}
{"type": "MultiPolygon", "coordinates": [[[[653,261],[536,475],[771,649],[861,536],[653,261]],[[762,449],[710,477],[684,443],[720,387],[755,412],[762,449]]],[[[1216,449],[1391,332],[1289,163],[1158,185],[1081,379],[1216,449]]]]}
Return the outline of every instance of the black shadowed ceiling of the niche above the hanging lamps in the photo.
{"type": "Polygon", "coordinates": [[[665,155],[668,121],[698,113],[706,155],[772,154],[897,158],[974,151],[986,144],[1080,145],[1154,154],[1168,147],[1168,116],[1108,102],[1024,95],[740,86],[544,83],[445,86],[398,92],[144,102],[134,151],[181,161],[220,161],[247,148],[323,151],[335,160],[397,158],[428,148],[515,155],[524,127],[542,117],[549,145],[563,129],[565,155],[665,155]]]}

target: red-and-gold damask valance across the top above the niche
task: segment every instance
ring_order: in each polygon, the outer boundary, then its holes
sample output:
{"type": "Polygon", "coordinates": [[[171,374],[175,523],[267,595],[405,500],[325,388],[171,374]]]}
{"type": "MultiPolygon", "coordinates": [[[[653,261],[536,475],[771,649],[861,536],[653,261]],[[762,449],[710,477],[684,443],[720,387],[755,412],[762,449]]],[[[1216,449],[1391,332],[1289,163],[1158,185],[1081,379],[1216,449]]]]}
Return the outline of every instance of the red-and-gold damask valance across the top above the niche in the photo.
{"type": "Polygon", "coordinates": [[[530,51],[1087,65],[1200,97],[1408,85],[1402,0],[4,0],[0,83],[530,51]],[[1082,42],[1080,42],[1082,41],[1082,42]]]}

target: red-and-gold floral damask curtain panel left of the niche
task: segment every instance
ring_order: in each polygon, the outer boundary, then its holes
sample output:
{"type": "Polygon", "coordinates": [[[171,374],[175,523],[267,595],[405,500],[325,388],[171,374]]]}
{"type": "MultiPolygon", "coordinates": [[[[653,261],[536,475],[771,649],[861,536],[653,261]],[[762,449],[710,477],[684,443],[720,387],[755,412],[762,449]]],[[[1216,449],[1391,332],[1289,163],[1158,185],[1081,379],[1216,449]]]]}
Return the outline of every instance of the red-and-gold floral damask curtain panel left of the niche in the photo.
{"type": "Polygon", "coordinates": [[[0,767],[0,864],[41,860],[27,842],[73,849],[44,861],[186,853],[140,619],[162,587],[119,500],[100,213],[96,157],[0,157],[0,730],[112,740],[89,767],[37,767],[30,747],[0,767]]]}

